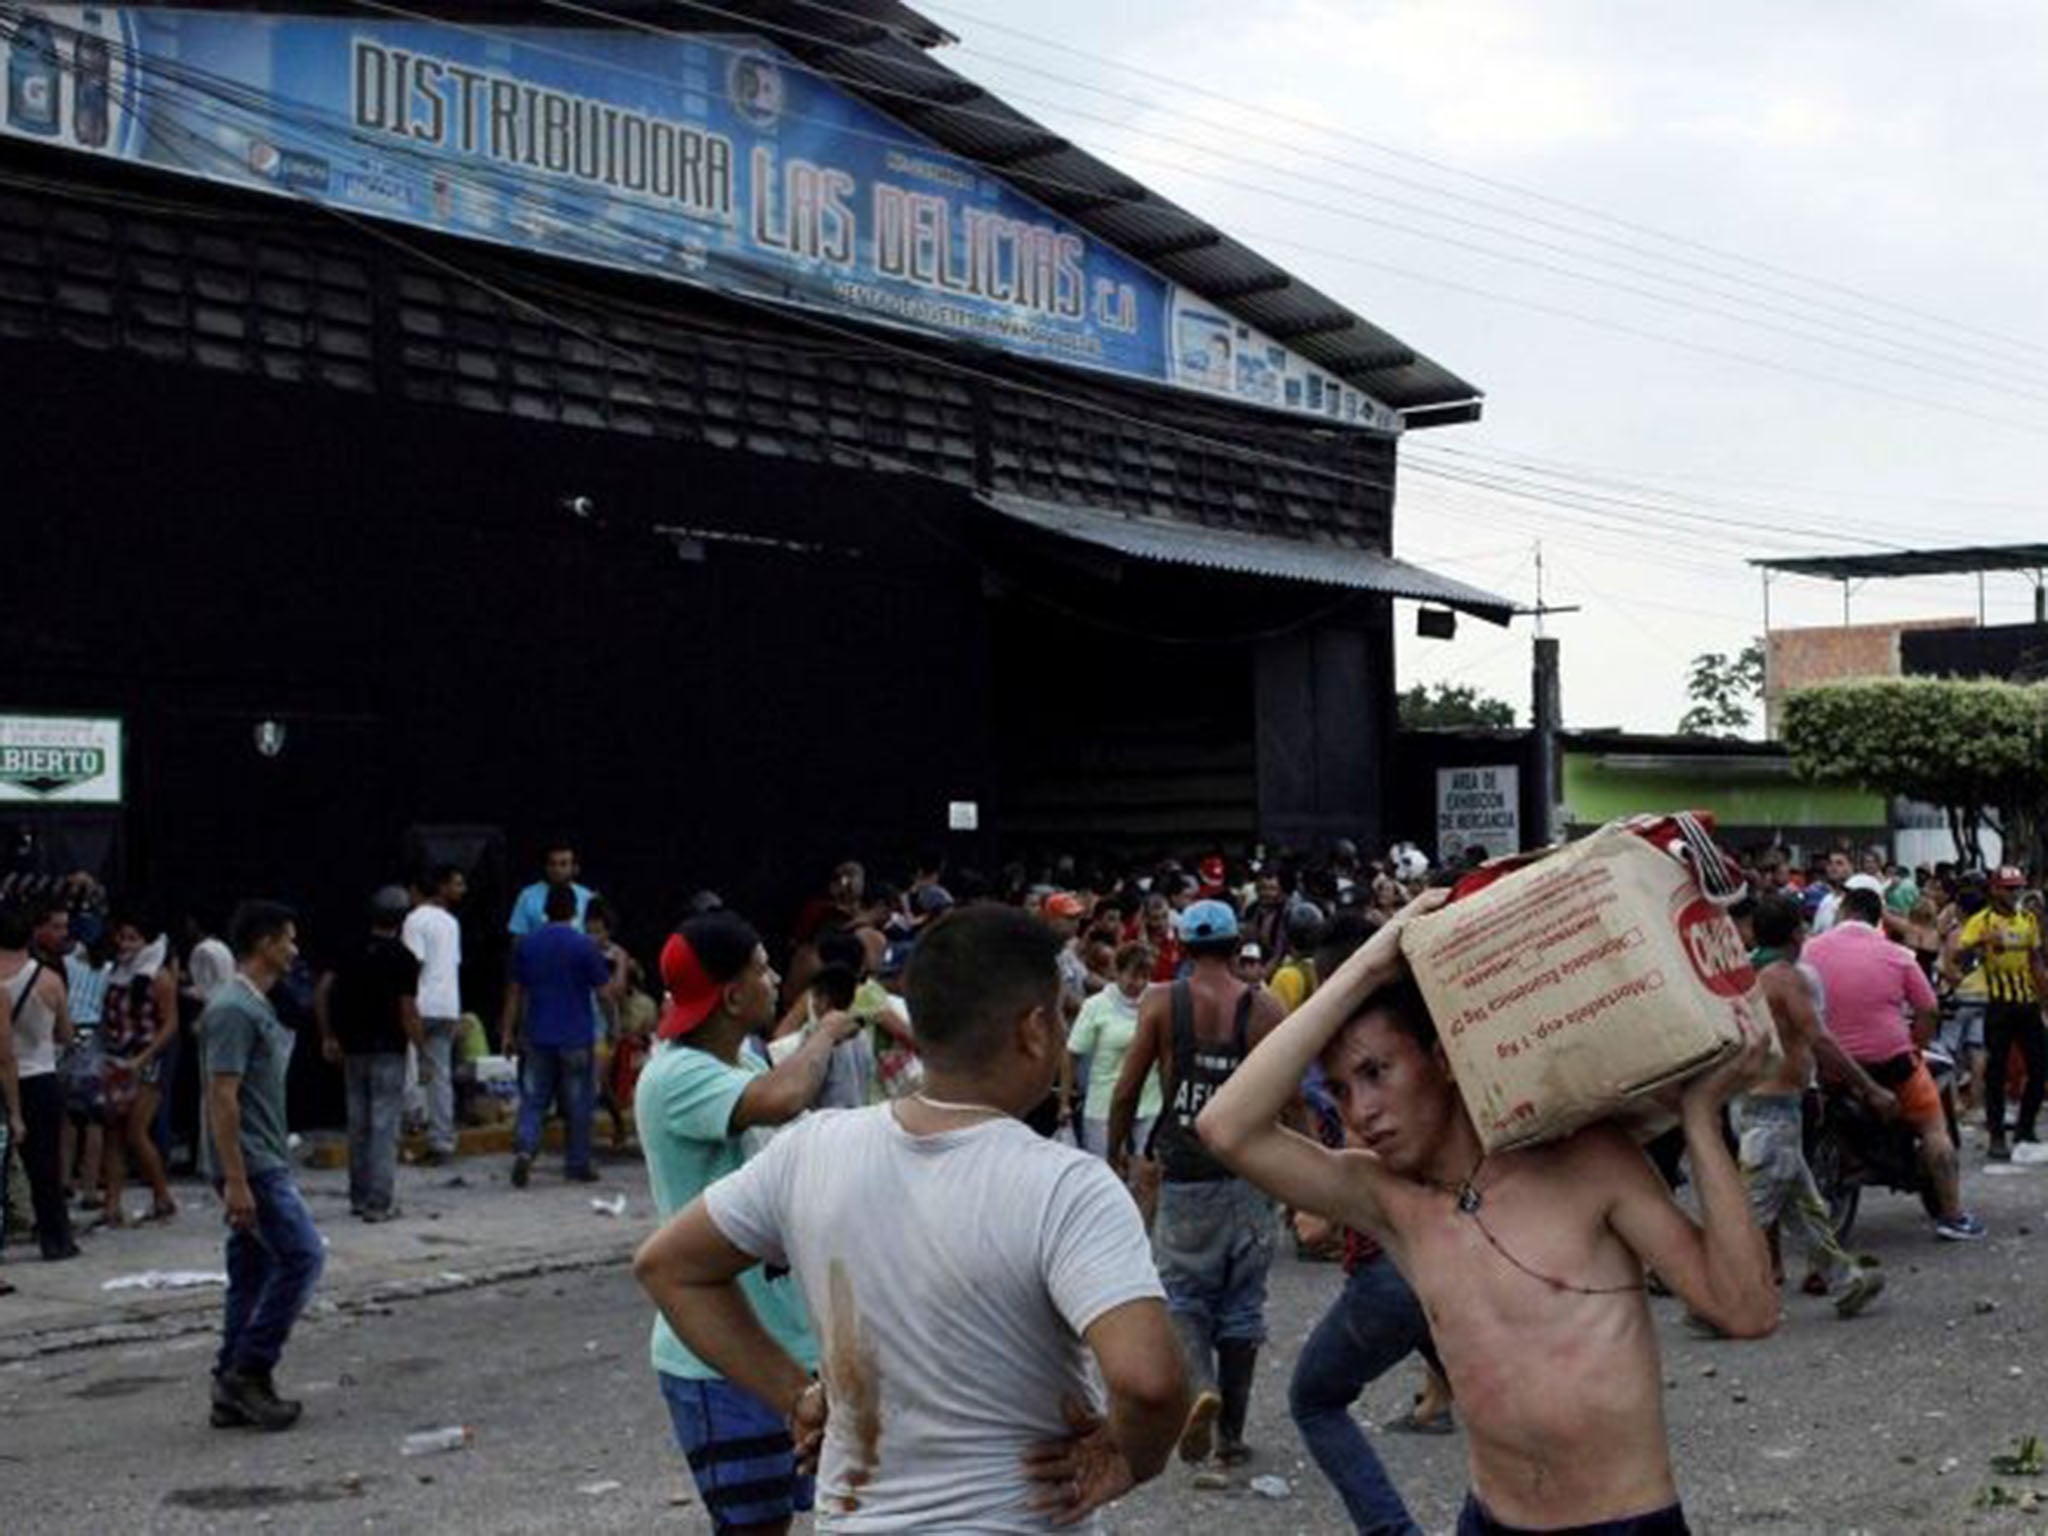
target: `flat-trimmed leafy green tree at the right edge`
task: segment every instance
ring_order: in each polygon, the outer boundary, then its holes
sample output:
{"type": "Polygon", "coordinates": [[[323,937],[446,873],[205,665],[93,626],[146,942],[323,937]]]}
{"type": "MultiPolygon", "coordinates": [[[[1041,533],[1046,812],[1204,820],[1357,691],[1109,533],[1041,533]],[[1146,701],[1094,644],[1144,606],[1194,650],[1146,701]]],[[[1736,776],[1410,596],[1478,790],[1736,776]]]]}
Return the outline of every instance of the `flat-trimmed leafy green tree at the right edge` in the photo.
{"type": "Polygon", "coordinates": [[[1810,778],[1847,778],[1948,813],[1956,848],[1985,862],[1978,831],[2032,860],[2048,793],[2048,686],[1980,678],[1878,678],[1786,696],[1784,741],[1810,778]]]}

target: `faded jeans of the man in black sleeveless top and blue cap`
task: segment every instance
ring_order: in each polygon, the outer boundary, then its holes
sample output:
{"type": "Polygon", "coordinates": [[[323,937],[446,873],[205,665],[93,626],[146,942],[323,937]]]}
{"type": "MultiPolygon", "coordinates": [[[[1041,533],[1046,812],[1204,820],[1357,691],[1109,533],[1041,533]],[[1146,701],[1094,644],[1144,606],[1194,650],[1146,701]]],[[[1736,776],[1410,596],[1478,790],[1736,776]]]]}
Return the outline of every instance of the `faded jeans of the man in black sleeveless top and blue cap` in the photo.
{"type": "Polygon", "coordinates": [[[1219,1343],[1266,1341],[1274,1227],[1272,1202],[1243,1180],[1159,1186],[1153,1262],[1196,1391],[1214,1384],[1219,1343]]]}

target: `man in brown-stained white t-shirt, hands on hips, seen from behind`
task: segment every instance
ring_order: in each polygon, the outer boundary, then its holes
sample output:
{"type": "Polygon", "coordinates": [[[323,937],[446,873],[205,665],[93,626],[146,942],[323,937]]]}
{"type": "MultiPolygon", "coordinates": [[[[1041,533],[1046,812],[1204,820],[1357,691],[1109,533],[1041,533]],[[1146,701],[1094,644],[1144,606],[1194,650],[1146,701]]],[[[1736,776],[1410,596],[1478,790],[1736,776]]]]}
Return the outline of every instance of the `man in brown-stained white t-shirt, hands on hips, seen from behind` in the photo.
{"type": "Polygon", "coordinates": [[[1180,1438],[1137,1206],[1018,1118],[1067,1049],[1057,952],[1010,907],[928,928],[905,979],[924,1092],[799,1120],[635,1260],[678,1337],[821,1452],[819,1532],[1094,1530],[1180,1438]],[[803,1288],[819,1382],[737,1284],[762,1262],[803,1288]]]}

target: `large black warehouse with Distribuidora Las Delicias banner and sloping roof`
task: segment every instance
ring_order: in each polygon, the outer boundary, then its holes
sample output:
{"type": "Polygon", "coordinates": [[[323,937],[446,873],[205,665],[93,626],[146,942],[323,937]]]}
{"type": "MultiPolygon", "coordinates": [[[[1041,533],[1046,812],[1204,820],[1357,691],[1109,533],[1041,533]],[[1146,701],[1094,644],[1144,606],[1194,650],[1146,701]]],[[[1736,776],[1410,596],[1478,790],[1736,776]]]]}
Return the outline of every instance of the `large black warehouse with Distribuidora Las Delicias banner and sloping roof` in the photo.
{"type": "Polygon", "coordinates": [[[1505,618],[1389,557],[1479,391],[887,0],[0,31],[12,868],[1372,838],[1393,598],[1505,618]]]}

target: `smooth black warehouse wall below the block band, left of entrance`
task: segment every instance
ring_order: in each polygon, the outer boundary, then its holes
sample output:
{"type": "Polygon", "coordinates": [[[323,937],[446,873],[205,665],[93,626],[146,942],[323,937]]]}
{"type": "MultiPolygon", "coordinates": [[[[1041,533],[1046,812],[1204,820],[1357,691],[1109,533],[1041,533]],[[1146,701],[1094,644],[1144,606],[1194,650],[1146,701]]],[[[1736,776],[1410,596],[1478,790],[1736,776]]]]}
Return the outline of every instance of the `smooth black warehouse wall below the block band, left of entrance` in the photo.
{"type": "Polygon", "coordinates": [[[979,569],[922,483],[76,350],[0,379],[14,569],[45,573],[6,702],[127,717],[125,877],[164,903],[272,891],[332,942],[408,827],[465,823],[512,881],[569,831],[643,936],[700,883],[780,926],[985,780],[944,707],[983,692],[979,569]],[[649,524],[801,547],[682,561],[649,524]]]}

